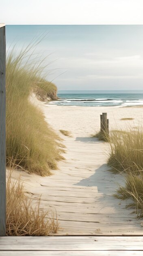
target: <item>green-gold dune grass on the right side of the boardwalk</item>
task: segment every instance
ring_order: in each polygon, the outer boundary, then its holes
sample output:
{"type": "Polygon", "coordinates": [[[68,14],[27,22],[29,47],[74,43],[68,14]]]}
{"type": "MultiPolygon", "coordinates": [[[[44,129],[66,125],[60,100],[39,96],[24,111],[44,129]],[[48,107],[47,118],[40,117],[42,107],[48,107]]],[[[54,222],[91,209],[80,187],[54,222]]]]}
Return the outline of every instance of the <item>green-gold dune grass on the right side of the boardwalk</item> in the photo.
{"type": "Polygon", "coordinates": [[[113,131],[110,142],[110,164],[114,171],[124,174],[125,185],[119,186],[115,196],[132,198],[128,207],[134,207],[138,218],[143,217],[143,128],[137,131],[113,131]]]}

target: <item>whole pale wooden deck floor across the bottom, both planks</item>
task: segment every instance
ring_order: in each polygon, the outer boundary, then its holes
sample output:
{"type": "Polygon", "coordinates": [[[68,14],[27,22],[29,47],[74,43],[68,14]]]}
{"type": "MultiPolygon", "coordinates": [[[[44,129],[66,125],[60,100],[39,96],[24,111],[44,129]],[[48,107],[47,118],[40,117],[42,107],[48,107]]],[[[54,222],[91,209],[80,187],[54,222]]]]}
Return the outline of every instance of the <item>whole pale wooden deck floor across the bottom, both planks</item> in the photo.
{"type": "Polygon", "coordinates": [[[0,237],[0,256],[142,256],[143,237],[0,237]]]}

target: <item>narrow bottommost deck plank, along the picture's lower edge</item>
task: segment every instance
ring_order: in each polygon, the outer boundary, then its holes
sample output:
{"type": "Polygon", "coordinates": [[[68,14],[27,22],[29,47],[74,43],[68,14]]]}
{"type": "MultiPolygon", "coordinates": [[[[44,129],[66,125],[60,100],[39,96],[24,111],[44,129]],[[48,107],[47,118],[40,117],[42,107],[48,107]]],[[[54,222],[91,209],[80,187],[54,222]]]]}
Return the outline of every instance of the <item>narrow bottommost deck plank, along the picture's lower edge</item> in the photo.
{"type": "Polygon", "coordinates": [[[143,251],[1,251],[2,256],[143,256],[143,251]]]}

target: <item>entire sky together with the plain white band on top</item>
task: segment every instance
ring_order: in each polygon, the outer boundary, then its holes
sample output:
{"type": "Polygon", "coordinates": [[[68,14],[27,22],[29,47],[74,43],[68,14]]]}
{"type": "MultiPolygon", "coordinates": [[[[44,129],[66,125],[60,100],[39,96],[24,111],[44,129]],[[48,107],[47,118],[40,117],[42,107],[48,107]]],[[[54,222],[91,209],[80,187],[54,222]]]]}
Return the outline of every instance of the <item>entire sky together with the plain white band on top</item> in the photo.
{"type": "Polygon", "coordinates": [[[4,0],[0,22],[6,23],[7,49],[16,44],[17,52],[46,35],[36,52],[48,56],[47,79],[59,90],[139,90],[143,25],[134,25],[143,24],[142,13],[142,0],[4,0]]]}

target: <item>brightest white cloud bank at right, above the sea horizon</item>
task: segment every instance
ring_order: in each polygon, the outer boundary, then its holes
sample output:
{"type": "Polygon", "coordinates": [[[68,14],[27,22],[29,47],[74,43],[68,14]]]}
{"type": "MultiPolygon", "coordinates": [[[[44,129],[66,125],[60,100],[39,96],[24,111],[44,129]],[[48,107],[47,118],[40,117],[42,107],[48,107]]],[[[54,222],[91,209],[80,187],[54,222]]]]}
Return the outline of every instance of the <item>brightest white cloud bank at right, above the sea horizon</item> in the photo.
{"type": "Polygon", "coordinates": [[[59,64],[75,73],[91,73],[92,75],[105,76],[143,76],[143,58],[139,55],[122,56],[110,60],[96,60],[90,58],[61,58],[59,64]],[[100,74],[99,74],[100,73],[100,74]]]}

